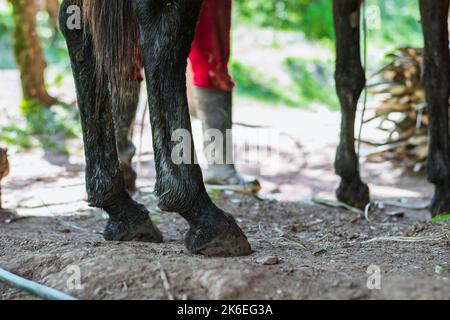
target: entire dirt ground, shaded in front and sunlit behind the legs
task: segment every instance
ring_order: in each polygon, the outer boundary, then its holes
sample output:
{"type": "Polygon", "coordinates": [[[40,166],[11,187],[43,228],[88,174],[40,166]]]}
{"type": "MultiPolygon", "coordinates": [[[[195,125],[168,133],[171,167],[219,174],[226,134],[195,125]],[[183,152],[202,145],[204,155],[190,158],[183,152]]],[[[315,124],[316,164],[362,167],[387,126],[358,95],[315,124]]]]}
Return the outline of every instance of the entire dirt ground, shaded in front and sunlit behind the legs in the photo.
{"type": "MultiPolygon", "coordinates": [[[[9,83],[17,83],[13,80],[9,83]]],[[[313,196],[332,199],[339,181],[332,168],[338,114],[261,107],[242,99],[236,104],[237,123],[270,126],[280,137],[274,146],[280,154],[276,174],[262,174],[255,163],[239,165],[244,174],[261,180],[262,198],[211,191],[220,207],[238,219],[253,255],[211,259],[186,252],[187,224],[176,214],[159,212],[151,193],[155,173],[146,126],[135,196],[151,209],[164,244],[103,241],[105,217],[84,201],[80,152],[12,152],[3,198],[18,216],[0,219],[0,267],[81,299],[450,298],[448,224],[431,224],[423,209],[389,205],[372,212],[369,222],[310,201],[313,196]],[[391,236],[433,239],[379,239],[391,236]],[[81,275],[77,289],[68,286],[74,268],[81,275]],[[380,270],[381,289],[368,288],[368,270],[380,270]]],[[[240,148],[243,136],[236,140],[240,148]]],[[[433,190],[424,176],[406,174],[401,163],[364,163],[362,172],[375,200],[401,200],[403,206],[430,201],[433,190]]],[[[28,298],[0,284],[0,299],[28,298]]]]}

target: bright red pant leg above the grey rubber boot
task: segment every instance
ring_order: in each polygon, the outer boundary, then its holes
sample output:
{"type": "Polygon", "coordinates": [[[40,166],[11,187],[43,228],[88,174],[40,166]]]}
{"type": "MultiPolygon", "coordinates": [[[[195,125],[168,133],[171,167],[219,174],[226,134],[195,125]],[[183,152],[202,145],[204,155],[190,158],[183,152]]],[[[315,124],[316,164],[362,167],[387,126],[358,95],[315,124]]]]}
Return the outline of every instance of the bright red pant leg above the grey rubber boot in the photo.
{"type": "Polygon", "coordinates": [[[189,59],[197,87],[231,92],[230,60],[232,0],[205,0],[189,59]]]}

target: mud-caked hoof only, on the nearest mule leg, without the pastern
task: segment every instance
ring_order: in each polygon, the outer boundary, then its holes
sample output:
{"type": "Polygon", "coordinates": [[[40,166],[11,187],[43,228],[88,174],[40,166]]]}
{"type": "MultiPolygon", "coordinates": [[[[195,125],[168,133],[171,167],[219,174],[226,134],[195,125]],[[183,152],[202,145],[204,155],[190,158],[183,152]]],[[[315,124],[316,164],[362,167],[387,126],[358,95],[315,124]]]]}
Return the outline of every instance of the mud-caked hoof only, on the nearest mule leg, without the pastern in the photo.
{"type": "Polygon", "coordinates": [[[215,235],[212,228],[191,229],[186,236],[186,247],[193,254],[210,257],[241,257],[253,253],[247,237],[235,219],[225,214],[222,228],[215,235]]]}

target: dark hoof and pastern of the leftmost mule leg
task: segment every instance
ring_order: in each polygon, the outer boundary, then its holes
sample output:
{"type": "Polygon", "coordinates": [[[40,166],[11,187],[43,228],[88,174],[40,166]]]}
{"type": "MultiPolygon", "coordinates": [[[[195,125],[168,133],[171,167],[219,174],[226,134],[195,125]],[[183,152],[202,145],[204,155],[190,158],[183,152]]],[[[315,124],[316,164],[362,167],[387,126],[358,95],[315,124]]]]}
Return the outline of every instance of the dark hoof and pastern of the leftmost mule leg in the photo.
{"type": "Polygon", "coordinates": [[[148,210],[129,199],[105,209],[110,219],[103,234],[107,241],[163,242],[163,236],[150,219],[148,210]]]}

